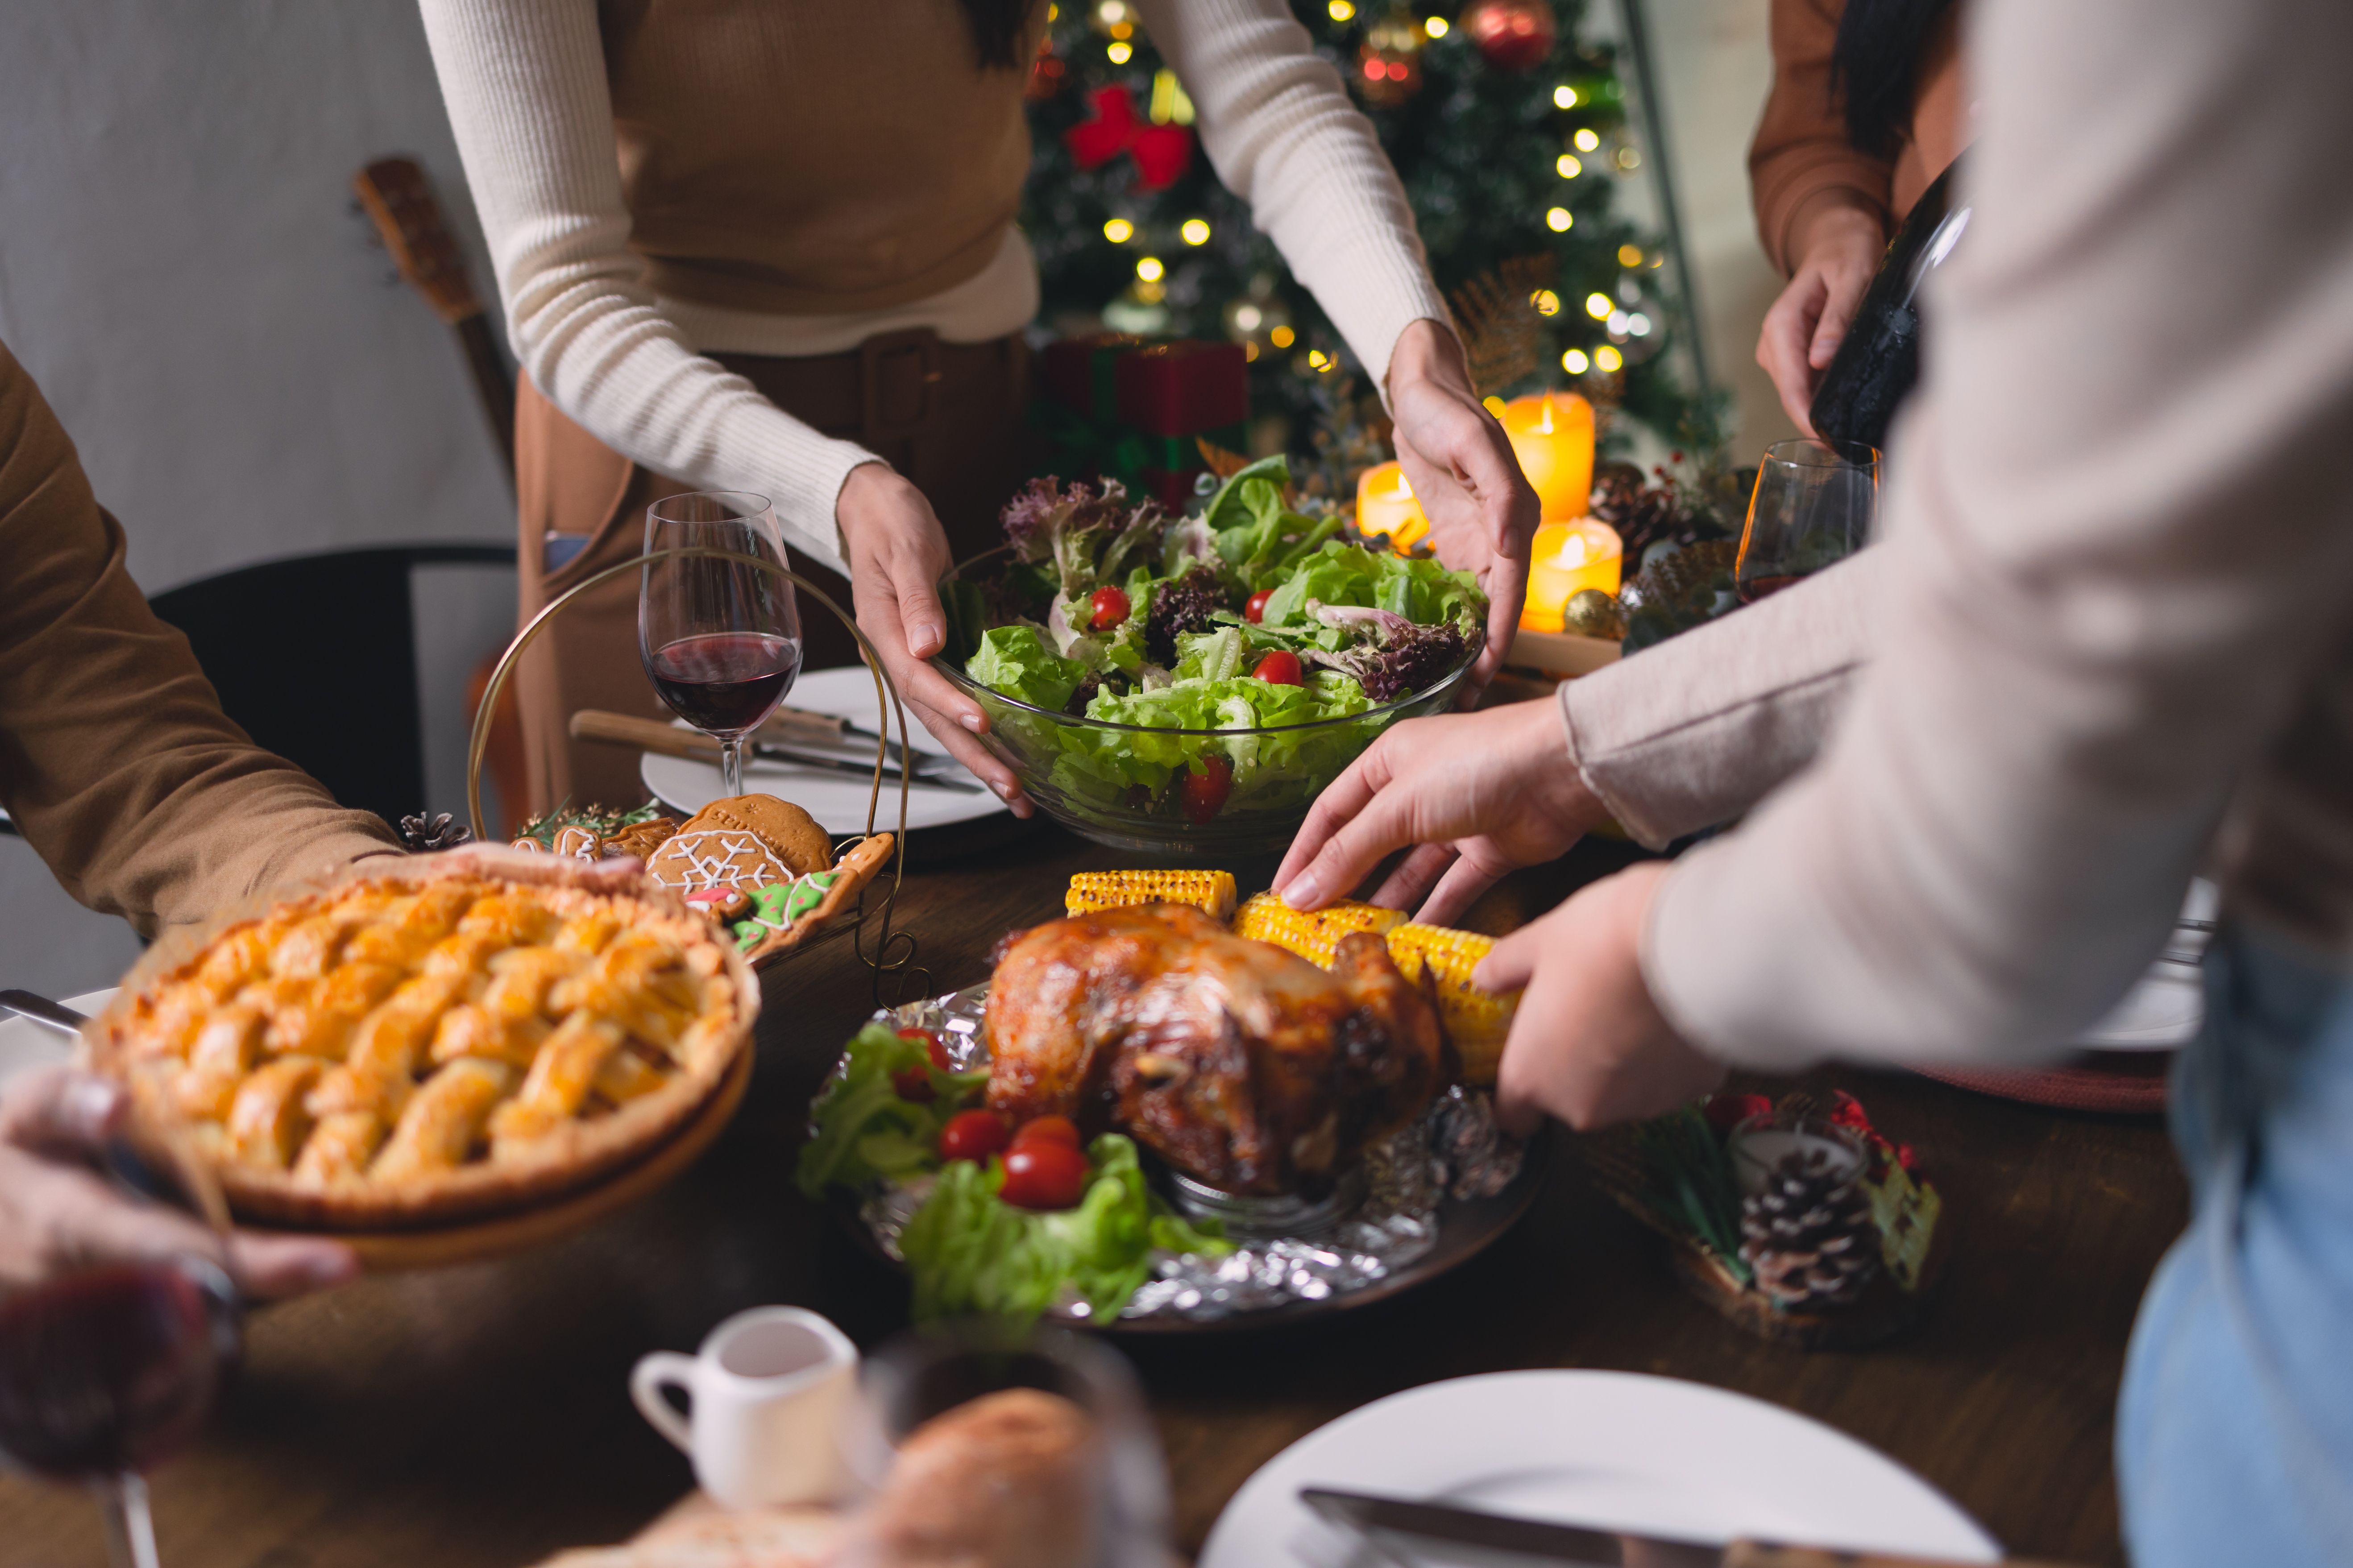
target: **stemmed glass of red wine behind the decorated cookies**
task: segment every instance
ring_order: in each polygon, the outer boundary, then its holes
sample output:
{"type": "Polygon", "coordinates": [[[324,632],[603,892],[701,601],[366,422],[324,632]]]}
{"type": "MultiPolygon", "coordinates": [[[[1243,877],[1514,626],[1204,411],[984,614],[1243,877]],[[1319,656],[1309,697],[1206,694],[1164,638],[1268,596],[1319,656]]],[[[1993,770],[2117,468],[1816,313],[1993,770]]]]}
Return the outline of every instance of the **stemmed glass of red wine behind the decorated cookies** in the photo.
{"type": "MultiPolygon", "coordinates": [[[[645,508],[645,550],[732,550],[784,559],[767,496],[696,491],[645,508]]],[[[793,583],[751,562],[649,559],[638,583],[638,654],[680,719],[720,743],[727,795],[744,792],[744,736],[760,729],[800,675],[793,583]]]]}

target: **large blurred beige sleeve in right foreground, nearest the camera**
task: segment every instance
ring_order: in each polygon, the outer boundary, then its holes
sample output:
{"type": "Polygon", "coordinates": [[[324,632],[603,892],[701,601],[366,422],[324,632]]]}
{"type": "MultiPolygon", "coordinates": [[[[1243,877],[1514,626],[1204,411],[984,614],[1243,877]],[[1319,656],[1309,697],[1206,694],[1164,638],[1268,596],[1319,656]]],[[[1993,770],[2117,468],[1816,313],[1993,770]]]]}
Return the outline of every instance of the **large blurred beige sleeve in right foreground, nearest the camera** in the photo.
{"type": "Polygon", "coordinates": [[[2353,14],[1969,26],[1977,216],[1887,461],[1882,635],[1824,757],[1675,865],[1645,938],[1666,1013],[1734,1063],[2064,1041],[2344,691],[2353,14]]]}

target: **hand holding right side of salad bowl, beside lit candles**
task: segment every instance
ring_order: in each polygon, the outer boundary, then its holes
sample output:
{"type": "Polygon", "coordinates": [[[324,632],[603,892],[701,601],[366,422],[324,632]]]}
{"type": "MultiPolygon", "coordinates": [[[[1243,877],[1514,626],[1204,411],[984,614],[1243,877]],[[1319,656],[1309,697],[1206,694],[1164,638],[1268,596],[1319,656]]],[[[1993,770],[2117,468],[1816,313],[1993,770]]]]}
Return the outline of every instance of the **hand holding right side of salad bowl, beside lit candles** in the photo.
{"type": "Polygon", "coordinates": [[[1487,590],[1487,649],[1471,668],[1471,679],[1485,686],[1520,628],[1537,491],[1504,425],[1480,404],[1461,343],[1438,322],[1414,322],[1398,339],[1388,407],[1398,421],[1398,465],[1431,520],[1431,548],[1449,569],[1478,574],[1487,590]]]}

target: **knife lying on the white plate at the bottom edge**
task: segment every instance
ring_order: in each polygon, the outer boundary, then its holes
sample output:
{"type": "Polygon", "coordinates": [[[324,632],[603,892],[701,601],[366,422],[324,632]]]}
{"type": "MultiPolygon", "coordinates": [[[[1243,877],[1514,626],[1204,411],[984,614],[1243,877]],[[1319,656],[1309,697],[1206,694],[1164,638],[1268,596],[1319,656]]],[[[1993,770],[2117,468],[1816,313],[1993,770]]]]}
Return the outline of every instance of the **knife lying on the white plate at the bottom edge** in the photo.
{"type": "MultiPolygon", "coordinates": [[[[1591,1563],[1595,1568],[1958,1568],[1951,1559],[1833,1552],[1826,1547],[1786,1547],[1762,1540],[1737,1540],[1729,1547],[1715,1547],[1671,1535],[1595,1530],[1574,1523],[1553,1523],[1551,1519],[1487,1514],[1452,1502],[1344,1493],[1325,1486],[1299,1488],[1299,1500],[1322,1519],[1374,1542],[1381,1535],[1405,1535],[1544,1563],[1591,1563]]],[[[2002,1563],[2007,1568],[2061,1568],[2059,1563],[2028,1563],[2026,1559],[2002,1559],[2002,1563]]]]}

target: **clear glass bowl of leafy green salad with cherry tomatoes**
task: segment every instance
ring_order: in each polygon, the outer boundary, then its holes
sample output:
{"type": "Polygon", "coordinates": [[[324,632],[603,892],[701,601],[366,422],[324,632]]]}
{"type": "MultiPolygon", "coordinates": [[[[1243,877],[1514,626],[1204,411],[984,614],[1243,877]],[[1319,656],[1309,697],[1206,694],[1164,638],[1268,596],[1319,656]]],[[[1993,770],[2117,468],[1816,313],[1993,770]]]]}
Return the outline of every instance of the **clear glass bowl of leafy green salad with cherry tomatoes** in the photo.
{"type": "Polygon", "coordinates": [[[1038,480],[1005,508],[1007,548],[941,583],[936,668],[1056,820],[1129,849],[1280,849],[1374,736],[1464,693],[1478,578],[1348,538],[1287,484],[1266,458],[1169,517],[1118,482],[1038,480]]]}

